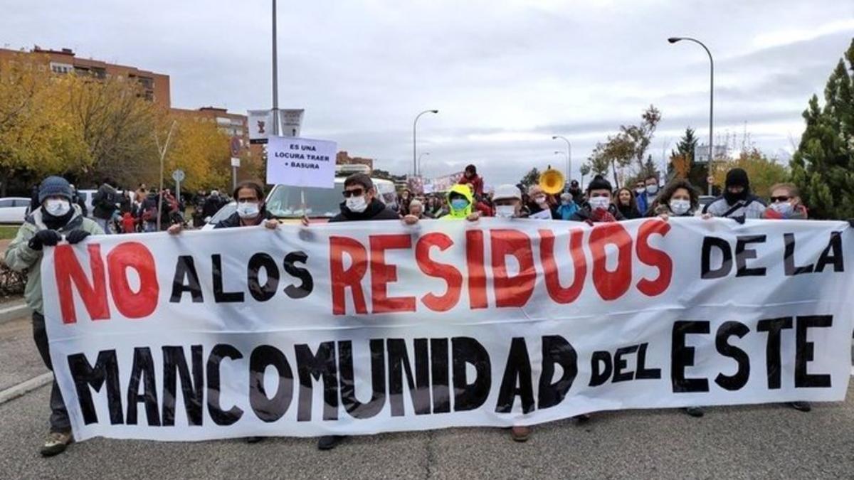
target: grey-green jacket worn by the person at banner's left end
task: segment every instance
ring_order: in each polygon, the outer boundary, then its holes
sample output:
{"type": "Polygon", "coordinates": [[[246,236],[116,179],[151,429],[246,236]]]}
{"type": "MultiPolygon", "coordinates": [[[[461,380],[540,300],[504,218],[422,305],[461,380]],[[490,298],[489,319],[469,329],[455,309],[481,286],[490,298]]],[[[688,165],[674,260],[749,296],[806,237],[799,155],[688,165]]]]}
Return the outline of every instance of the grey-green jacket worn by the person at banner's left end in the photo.
{"type": "MultiPolygon", "coordinates": [[[[71,220],[62,226],[59,233],[67,233],[72,230],[88,231],[92,235],[103,235],[101,227],[95,223],[95,220],[87,219],[83,216],[80,208],[72,204],[74,213],[71,220]]],[[[42,301],[42,250],[33,250],[30,248],[30,239],[35,236],[37,231],[48,230],[48,226],[42,221],[42,209],[36,208],[32,214],[26,216],[23,225],[20,225],[18,234],[9,247],[6,249],[6,255],[3,261],[6,266],[9,266],[15,272],[23,272],[26,270],[26,287],[24,288],[24,300],[26,305],[32,308],[33,311],[44,314],[44,305],[42,301]]]]}

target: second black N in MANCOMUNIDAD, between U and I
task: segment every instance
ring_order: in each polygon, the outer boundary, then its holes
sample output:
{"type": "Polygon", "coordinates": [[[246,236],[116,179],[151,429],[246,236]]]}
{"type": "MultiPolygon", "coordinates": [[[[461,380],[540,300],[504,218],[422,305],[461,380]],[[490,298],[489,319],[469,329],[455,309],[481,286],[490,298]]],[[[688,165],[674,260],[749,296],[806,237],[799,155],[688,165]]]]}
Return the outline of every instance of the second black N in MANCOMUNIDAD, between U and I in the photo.
{"type": "Polygon", "coordinates": [[[389,405],[392,417],[402,417],[406,414],[403,407],[403,376],[407,377],[407,387],[412,395],[412,408],[416,415],[430,413],[430,374],[427,356],[427,339],[416,338],[415,345],[415,378],[412,378],[412,368],[409,365],[407,342],[402,338],[386,339],[389,349],[389,405]]]}

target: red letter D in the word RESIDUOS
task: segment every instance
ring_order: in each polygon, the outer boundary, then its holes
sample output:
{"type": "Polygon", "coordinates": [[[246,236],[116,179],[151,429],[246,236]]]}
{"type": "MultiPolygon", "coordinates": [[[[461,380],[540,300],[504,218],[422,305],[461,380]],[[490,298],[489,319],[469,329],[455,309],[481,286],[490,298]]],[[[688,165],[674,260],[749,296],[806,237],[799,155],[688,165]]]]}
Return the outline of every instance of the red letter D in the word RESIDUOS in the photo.
{"type": "Polygon", "coordinates": [[[496,307],[524,307],[534,294],[536,271],[531,240],[518,230],[489,231],[492,247],[492,272],[496,307]],[[507,255],[519,262],[519,273],[507,276],[507,255]]]}

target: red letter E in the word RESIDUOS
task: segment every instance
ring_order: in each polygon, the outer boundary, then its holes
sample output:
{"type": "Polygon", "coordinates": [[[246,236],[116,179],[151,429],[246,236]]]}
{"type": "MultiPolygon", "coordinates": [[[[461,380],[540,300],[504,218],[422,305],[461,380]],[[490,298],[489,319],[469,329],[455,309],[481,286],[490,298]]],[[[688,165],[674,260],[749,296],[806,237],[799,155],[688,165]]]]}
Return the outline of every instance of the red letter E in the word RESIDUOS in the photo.
{"type": "Polygon", "coordinates": [[[385,250],[412,249],[408,233],[371,235],[372,313],[414,312],[414,296],[389,296],[387,284],[397,281],[397,266],[385,263],[385,250]]]}

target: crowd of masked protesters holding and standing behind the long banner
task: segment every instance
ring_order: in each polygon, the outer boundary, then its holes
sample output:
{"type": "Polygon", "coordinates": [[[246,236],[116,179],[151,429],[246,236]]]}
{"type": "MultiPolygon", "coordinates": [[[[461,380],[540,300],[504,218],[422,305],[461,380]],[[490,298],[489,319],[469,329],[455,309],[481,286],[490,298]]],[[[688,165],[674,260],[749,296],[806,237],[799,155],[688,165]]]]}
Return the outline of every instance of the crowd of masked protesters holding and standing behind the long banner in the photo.
{"type": "MultiPolygon", "coordinates": [[[[355,173],[344,182],[341,213],[330,222],[400,220],[413,225],[422,220],[468,220],[482,217],[502,219],[543,219],[585,222],[633,220],[642,217],[698,216],[709,219],[723,217],[743,222],[746,219],[804,220],[808,210],[801,202],[798,189],[793,184],[776,184],[768,193],[770,203],[763,202],[750,186],[747,173],[740,168],[728,172],[722,196],[701,206],[699,193],[685,179],[674,179],[663,187],[658,179],[649,176],[629,188],[614,189],[604,177],[597,175],[582,190],[576,180],[565,191],[547,194],[538,184],[524,188],[522,184],[501,184],[494,191],[484,186],[477,167],[465,168],[457,184],[447,192],[430,195],[413,195],[401,191],[396,206],[383,204],[371,177],[355,173]]],[[[236,210],[219,221],[214,228],[231,228],[265,225],[275,230],[279,221],[266,209],[263,185],[254,182],[238,184],[231,192],[236,210]]],[[[203,225],[219,212],[231,198],[218,190],[209,193],[197,191],[189,197],[194,214],[193,226],[203,225]]],[[[33,190],[31,211],[21,225],[15,239],[6,250],[4,261],[16,271],[27,272],[25,297],[32,308],[33,334],[44,364],[50,369],[49,342],[44,330],[41,278],[39,263],[45,246],[53,246],[64,239],[79,243],[94,234],[131,233],[143,231],[169,231],[179,235],[188,228],[184,220],[185,200],[173,196],[169,189],[158,190],[139,184],[136,190],[120,189],[110,179],[105,179],[92,199],[92,212],[87,217],[85,202],[66,179],[48,177],[33,190]],[[91,218],[90,218],[91,217],[91,218]]],[[[312,225],[307,217],[302,224],[312,225]]],[[[795,402],[793,407],[809,411],[806,402],[795,402]]],[[[60,390],[54,380],[50,394],[50,434],[41,453],[45,456],[60,454],[72,442],[68,414],[60,390]]],[[[686,409],[693,416],[702,416],[702,408],[686,409]]],[[[579,419],[586,419],[581,416],[579,419]]],[[[530,428],[512,428],[512,438],[524,442],[530,428]]],[[[334,448],[341,436],[325,436],[319,440],[321,449],[334,448]]],[[[257,441],[258,438],[250,438],[257,441]]]]}

